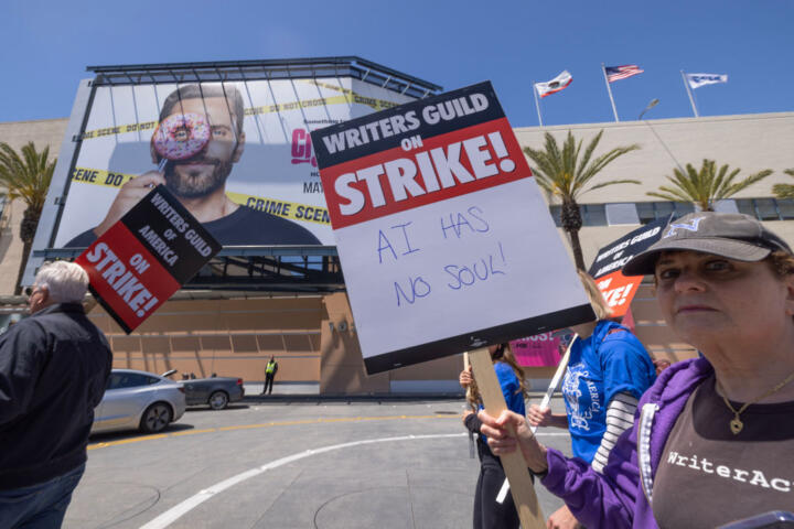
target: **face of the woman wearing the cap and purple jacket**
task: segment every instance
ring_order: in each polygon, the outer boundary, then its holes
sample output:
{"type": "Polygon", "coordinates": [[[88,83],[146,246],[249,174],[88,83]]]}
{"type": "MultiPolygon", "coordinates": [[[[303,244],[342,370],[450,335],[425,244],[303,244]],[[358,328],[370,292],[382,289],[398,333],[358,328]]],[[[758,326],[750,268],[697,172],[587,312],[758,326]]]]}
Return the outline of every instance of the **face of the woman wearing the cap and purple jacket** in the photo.
{"type": "Polygon", "coordinates": [[[701,350],[719,341],[769,339],[794,325],[794,277],[780,279],[765,262],[670,251],[655,277],[667,324],[701,350]]]}

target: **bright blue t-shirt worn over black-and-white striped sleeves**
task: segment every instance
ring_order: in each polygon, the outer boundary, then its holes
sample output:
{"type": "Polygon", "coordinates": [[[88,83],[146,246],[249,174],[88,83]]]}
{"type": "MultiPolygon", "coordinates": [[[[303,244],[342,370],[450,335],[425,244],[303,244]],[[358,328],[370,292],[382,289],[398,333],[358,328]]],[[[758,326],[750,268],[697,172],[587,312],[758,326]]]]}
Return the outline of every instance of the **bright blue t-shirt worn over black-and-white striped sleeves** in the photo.
{"type": "Polygon", "coordinates": [[[645,347],[618,323],[603,320],[571,347],[562,379],[573,455],[588,463],[607,431],[607,407],[618,393],[640,398],[656,379],[645,347]],[[622,330],[610,334],[612,330],[622,330]]]}

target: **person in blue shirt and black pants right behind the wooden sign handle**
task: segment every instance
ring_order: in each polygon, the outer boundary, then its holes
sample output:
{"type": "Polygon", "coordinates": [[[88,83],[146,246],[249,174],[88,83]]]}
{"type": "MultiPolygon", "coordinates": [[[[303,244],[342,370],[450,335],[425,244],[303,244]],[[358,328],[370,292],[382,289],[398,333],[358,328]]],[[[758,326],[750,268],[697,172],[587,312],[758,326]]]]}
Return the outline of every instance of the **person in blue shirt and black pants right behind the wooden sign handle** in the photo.
{"type": "MultiPolygon", "coordinates": [[[[496,378],[498,378],[505,403],[511,411],[525,414],[524,399],[526,386],[524,369],[518,365],[509,344],[492,345],[489,347],[491,359],[494,363],[496,378]]],[[[460,374],[459,381],[466,388],[466,400],[471,410],[463,418],[469,431],[479,434],[476,438],[478,454],[480,455],[480,476],[474,495],[474,529],[519,528],[518,512],[513,496],[507,495],[504,503],[496,503],[496,495],[505,481],[504,468],[497,456],[487,446],[485,438],[480,434],[480,419],[474,411],[483,409],[482,398],[472,376],[471,366],[460,374]]]]}

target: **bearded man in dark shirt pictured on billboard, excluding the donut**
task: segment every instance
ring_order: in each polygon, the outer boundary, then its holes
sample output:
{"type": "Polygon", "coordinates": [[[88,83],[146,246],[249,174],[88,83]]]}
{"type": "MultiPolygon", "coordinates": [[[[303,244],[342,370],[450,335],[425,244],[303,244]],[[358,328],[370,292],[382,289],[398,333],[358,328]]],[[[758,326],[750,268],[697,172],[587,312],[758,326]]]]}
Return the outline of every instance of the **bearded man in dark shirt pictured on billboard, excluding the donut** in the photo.
{"type": "MultiPolygon", "coordinates": [[[[87,247],[135,206],[151,187],[164,184],[224,246],[319,245],[320,240],[292,220],[239,205],[226,196],[226,181],[245,150],[244,104],[237,88],[223,85],[185,85],[163,101],[159,121],[171,116],[205,117],[210,139],[196,154],[167,160],[161,171],[148,171],[121,186],[105,218],[65,247],[87,247]]],[[[162,155],[150,148],[152,162],[162,155]]]]}

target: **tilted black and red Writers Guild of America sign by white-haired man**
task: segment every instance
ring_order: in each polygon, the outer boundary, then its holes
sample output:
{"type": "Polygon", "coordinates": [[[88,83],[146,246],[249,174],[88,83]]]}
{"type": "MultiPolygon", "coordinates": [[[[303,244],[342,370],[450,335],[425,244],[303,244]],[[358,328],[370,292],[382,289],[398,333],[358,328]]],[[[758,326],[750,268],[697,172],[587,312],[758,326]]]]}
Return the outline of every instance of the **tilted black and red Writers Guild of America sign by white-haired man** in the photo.
{"type": "Polygon", "coordinates": [[[218,251],[221,245],[159,185],[75,260],[89,290],[127,334],[218,251]]]}

